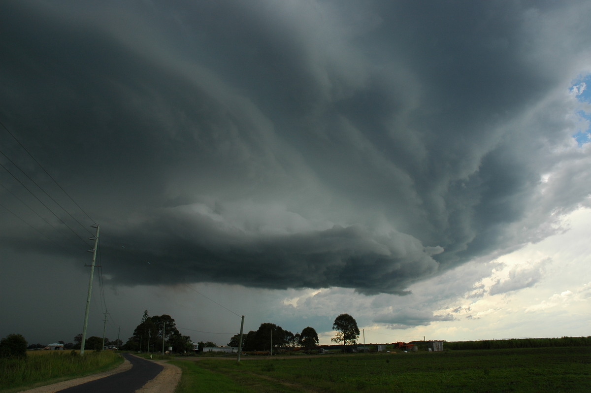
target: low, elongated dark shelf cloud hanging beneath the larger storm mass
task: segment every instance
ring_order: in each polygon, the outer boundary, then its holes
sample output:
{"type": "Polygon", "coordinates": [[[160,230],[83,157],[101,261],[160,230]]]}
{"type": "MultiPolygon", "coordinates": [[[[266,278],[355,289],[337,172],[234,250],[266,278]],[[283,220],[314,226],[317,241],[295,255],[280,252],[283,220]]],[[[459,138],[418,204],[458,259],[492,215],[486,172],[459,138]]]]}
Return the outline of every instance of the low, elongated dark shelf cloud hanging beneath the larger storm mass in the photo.
{"type": "Polygon", "coordinates": [[[400,293],[398,288],[409,280],[437,270],[437,263],[411,236],[375,236],[359,226],[254,236],[179,212],[135,232],[142,238],[110,241],[141,249],[107,247],[103,252],[126,259],[124,280],[137,284],[223,280],[278,289],[340,286],[400,293]]]}

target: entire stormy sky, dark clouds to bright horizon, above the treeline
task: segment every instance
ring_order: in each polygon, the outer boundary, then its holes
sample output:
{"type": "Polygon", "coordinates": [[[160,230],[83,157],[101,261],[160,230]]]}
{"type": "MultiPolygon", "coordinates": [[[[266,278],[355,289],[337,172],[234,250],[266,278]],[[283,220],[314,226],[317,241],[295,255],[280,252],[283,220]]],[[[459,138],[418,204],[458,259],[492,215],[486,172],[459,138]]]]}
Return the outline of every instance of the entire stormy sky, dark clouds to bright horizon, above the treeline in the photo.
{"type": "Polygon", "coordinates": [[[1,8],[0,336],[591,334],[588,1],[1,8]]]}

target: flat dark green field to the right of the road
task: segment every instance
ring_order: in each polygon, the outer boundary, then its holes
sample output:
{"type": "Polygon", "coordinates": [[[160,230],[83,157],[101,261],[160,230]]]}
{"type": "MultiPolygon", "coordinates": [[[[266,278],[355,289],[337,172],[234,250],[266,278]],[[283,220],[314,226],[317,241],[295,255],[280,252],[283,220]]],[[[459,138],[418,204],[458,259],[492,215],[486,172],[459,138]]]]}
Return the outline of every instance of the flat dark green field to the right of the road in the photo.
{"type": "Polygon", "coordinates": [[[201,359],[183,369],[178,391],[208,392],[589,392],[591,348],[201,359]],[[244,359],[244,358],[243,358],[244,359]]]}

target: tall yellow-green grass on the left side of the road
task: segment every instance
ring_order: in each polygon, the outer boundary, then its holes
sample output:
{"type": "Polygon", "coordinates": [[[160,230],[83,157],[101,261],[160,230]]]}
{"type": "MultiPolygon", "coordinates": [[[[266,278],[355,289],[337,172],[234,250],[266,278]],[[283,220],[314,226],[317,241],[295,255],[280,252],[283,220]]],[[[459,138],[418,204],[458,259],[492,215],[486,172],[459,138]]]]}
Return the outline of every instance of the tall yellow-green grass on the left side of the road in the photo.
{"type": "Polygon", "coordinates": [[[22,359],[0,359],[0,391],[46,385],[106,371],[123,362],[117,353],[86,351],[29,351],[22,359]]]}

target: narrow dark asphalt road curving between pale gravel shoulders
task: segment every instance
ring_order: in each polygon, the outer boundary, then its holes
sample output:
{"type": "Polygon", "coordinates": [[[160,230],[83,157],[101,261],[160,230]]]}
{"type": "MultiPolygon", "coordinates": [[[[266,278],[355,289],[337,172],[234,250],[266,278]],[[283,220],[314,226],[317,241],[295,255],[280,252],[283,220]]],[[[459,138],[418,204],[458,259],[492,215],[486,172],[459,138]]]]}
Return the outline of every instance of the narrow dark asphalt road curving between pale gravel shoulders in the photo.
{"type": "Polygon", "coordinates": [[[67,393],[133,393],[144,386],[150,379],[154,378],[163,370],[163,366],[137,358],[137,356],[126,353],[125,359],[133,365],[128,371],[120,372],[105,378],[96,379],[86,384],[72,386],[60,390],[67,393]]]}

